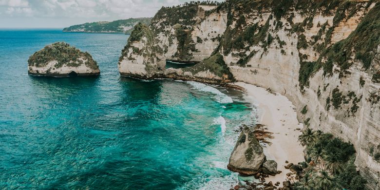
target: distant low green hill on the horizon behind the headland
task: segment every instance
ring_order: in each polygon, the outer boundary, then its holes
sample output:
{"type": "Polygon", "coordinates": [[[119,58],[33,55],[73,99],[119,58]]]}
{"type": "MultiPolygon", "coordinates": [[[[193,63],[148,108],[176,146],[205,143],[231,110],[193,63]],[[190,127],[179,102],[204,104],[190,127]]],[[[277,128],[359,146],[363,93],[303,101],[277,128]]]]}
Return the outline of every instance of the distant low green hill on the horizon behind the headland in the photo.
{"type": "Polygon", "coordinates": [[[90,33],[125,33],[131,34],[133,26],[138,22],[149,25],[152,18],[130,18],[112,22],[100,21],[73,25],[63,29],[63,32],[90,32],[90,33]]]}

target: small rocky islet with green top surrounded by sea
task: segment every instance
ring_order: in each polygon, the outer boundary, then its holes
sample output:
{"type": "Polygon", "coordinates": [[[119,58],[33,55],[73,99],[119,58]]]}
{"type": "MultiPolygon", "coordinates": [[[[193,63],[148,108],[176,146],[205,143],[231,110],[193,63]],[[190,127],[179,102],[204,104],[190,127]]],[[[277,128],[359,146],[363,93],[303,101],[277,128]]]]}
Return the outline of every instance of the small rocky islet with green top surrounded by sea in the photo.
{"type": "Polygon", "coordinates": [[[96,61],[65,42],[47,45],[28,60],[28,73],[37,76],[96,76],[96,61]]]}

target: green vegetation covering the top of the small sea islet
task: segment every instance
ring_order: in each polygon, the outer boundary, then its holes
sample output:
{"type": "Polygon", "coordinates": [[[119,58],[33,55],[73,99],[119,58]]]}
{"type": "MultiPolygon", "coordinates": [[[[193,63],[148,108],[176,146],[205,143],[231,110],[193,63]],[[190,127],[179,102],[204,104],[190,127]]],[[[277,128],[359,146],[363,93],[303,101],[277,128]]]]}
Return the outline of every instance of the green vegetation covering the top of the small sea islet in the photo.
{"type": "Polygon", "coordinates": [[[55,68],[62,66],[77,67],[82,64],[90,67],[91,69],[99,69],[96,61],[87,52],[81,52],[79,49],[70,46],[65,42],[56,42],[47,45],[42,50],[34,53],[28,59],[29,66],[44,67],[50,61],[56,60],[55,68]],[[83,60],[86,60],[85,62],[83,60]]]}

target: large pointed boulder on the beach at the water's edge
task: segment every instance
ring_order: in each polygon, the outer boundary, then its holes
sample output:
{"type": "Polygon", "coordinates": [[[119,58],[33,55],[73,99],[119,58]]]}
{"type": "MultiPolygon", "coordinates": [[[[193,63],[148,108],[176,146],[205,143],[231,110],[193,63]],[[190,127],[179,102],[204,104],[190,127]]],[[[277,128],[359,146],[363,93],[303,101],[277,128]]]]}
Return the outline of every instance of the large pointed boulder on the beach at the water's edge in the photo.
{"type": "Polygon", "coordinates": [[[240,133],[229,158],[228,170],[242,175],[253,175],[261,171],[266,157],[253,132],[245,127],[240,133]]]}

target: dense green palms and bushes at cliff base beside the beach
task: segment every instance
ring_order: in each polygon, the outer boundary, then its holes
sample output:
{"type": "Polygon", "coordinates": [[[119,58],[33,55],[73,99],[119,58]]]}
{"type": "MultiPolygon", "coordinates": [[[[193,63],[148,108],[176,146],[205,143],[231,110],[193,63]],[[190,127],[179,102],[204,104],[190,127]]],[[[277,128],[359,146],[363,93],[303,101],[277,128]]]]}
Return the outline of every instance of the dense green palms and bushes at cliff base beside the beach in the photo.
{"type": "Polygon", "coordinates": [[[299,173],[296,190],[364,190],[366,180],[356,171],[351,143],[330,133],[306,128],[298,140],[306,146],[306,162],[299,173]]]}

